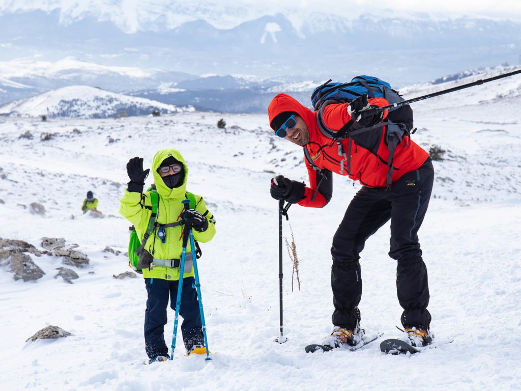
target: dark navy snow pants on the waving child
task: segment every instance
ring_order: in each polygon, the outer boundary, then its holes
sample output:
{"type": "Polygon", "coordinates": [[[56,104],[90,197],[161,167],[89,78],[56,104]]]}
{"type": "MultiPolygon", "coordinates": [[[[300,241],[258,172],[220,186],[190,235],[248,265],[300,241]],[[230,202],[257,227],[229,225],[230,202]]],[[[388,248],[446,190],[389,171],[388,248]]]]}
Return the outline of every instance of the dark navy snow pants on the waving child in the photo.
{"type": "MultiPolygon", "coordinates": [[[[181,332],[183,334],[184,347],[190,350],[193,345],[204,345],[203,326],[197,291],[192,287],[195,284],[194,277],[183,278],[181,290],[181,307],[179,314],[183,318],[181,332]]],[[[149,358],[168,356],[168,347],[163,336],[167,324],[166,311],[168,299],[170,307],[176,310],[177,288],[179,281],[169,281],[161,278],[145,278],[146,300],[145,310],[145,350],[149,358]]],[[[171,336],[171,332],[169,336],[171,336]]],[[[179,345],[176,345],[179,346],[179,345]]]]}

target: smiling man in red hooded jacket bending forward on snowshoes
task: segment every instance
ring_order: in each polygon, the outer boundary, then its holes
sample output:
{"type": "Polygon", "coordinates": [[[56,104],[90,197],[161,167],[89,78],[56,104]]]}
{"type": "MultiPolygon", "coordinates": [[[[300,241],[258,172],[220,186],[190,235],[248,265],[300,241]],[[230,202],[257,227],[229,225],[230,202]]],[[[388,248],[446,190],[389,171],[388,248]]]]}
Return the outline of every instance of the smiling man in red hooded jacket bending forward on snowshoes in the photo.
{"type": "Polygon", "coordinates": [[[312,112],[293,97],[278,94],[268,107],[276,135],[303,147],[309,176],[309,187],[281,175],[275,177],[270,188],[273,198],[323,207],[332,196],[332,173],[363,185],[349,204],[331,247],[334,328],[324,341],[331,348],[354,346],[363,339],[358,310],[362,297],[359,254],[367,238],[389,219],[389,255],[398,261],[396,287],[404,309],[402,325],[411,345],[425,346],[432,340],[427,268],[417,233],[429,204],[434,169],[429,154],[407,136],[413,122],[410,106],[400,107],[401,124],[391,124],[387,111],[374,114],[367,110],[388,104],[383,98],[362,95],[351,103],[329,104],[312,112]],[[345,136],[330,137],[331,132],[345,130],[346,124],[345,136]],[[389,131],[393,126],[406,131],[397,145],[389,131]]]}

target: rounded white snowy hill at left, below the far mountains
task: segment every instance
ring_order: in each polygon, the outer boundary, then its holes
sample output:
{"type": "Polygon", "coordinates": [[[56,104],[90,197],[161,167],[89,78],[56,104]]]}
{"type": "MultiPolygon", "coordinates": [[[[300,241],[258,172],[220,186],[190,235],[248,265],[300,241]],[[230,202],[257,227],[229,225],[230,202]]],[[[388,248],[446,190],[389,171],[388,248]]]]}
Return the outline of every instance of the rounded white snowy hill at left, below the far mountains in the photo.
{"type": "Polygon", "coordinates": [[[123,115],[147,115],[152,111],[176,113],[193,110],[104,91],[85,85],[72,85],[58,90],[0,106],[0,115],[48,118],[107,118],[123,115]]]}

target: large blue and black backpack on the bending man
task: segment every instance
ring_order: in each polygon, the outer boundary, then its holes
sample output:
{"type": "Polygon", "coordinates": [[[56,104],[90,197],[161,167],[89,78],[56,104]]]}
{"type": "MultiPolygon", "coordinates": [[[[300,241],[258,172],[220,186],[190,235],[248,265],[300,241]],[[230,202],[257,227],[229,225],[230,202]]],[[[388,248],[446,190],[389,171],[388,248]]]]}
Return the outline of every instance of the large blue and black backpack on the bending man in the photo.
{"type": "MultiPolygon", "coordinates": [[[[413,128],[413,112],[411,107],[408,105],[400,106],[393,111],[389,111],[387,118],[386,120],[384,120],[384,122],[374,125],[370,128],[358,127],[356,130],[351,130],[351,126],[354,124],[353,119],[351,119],[338,131],[329,129],[324,124],[324,120],[322,119],[322,115],[324,114],[324,108],[327,105],[351,102],[357,96],[361,96],[363,94],[367,94],[368,98],[383,97],[390,104],[404,101],[403,97],[398,93],[398,91],[393,90],[388,82],[383,81],[374,76],[361,75],[354,77],[349,83],[331,82],[331,79],[326,81],[324,84],[319,85],[313,90],[313,93],[311,94],[311,103],[315,111],[318,111],[318,128],[324,136],[333,139],[331,145],[333,145],[335,142],[338,143],[339,149],[342,149],[342,145],[340,144],[341,139],[344,139],[346,137],[351,138],[352,136],[357,135],[359,133],[387,126],[386,144],[388,145],[389,149],[389,161],[386,184],[387,188],[390,188],[393,172],[392,160],[394,151],[396,149],[396,145],[398,145],[402,141],[405,135],[407,137],[410,137],[410,135],[414,133],[414,131],[416,130],[414,129],[411,132],[411,129],[413,128]]],[[[351,143],[349,143],[349,146],[351,148],[351,143]]],[[[308,156],[309,153],[306,152],[307,150],[304,149],[304,155],[306,156],[306,160],[312,165],[312,167],[315,170],[318,170],[321,173],[321,169],[319,169],[313,163],[311,157],[308,156]]],[[[351,151],[348,151],[346,155],[349,172],[349,167],[351,164],[351,151]]],[[[324,176],[322,175],[322,178],[323,177],[324,176]]],[[[315,198],[316,192],[318,191],[318,187],[320,186],[320,182],[317,185],[317,189],[315,190],[312,199],[315,198]]]]}

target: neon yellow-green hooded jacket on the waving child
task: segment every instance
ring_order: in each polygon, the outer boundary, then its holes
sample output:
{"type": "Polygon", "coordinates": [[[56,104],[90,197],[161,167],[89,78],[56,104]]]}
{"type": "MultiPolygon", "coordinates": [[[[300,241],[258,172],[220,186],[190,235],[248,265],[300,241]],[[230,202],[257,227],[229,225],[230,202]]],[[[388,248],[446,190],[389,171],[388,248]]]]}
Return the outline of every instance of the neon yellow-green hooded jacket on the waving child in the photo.
{"type": "MultiPolygon", "coordinates": [[[[188,181],[188,166],[179,151],[173,148],[167,148],[157,152],[152,160],[151,172],[154,176],[154,184],[156,185],[157,193],[159,194],[159,204],[157,205],[157,223],[169,224],[180,221],[180,214],[184,211],[182,200],[186,199],[188,181]],[[173,156],[183,164],[184,167],[184,181],[179,187],[170,189],[165,185],[163,179],[157,172],[161,163],[173,156]]],[[[212,240],[215,235],[215,219],[214,216],[206,209],[206,204],[203,197],[194,194],[195,207],[194,209],[201,213],[208,219],[208,229],[204,232],[192,230],[194,239],[200,242],[207,242],[212,240]]],[[[138,193],[129,192],[125,190],[123,198],[120,200],[119,213],[128,219],[137,231],[138,237],[143,238],[143,235],[148,228],[150,215],[152,214],[152,202],[148,192],[138,193]]],[[[165,228],[166,240],[165,243],[157,237],[157,227],[153,233],[148,237],[144,249],[152,254],[154,259],[180,259],[183,248],[183,228],[184,226],[165,228]]],[[[190,241],[187,247],[187,260],[189,260],[191,252],[190,241]]],[[[191,259],[190,259],[191,260],[191,259]]],[[[194,276],[193,268],[191,273],[184,273],[184,277],[194,276]]],[[[144,278],[162,278],[166,280],[178,280],[179,268],[168,266],[154,266],[152,270],[143,269],[144,278]]]]}

